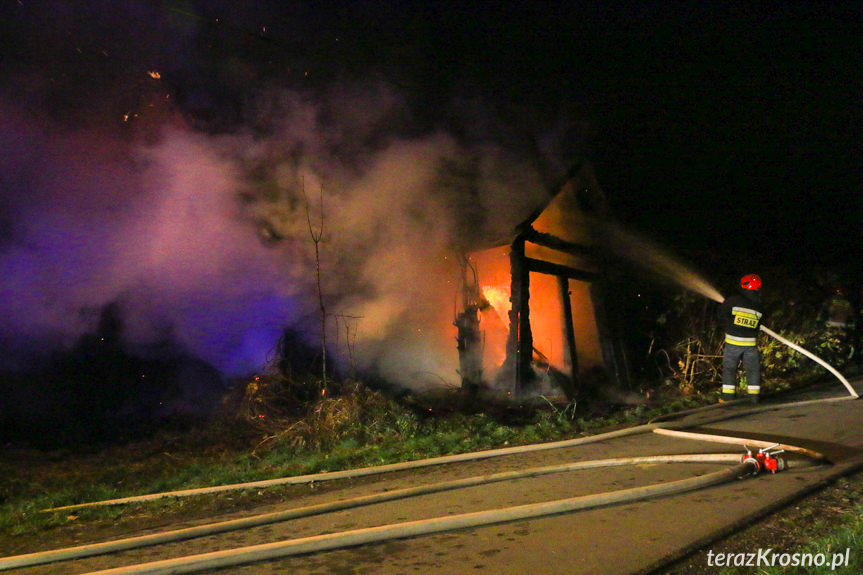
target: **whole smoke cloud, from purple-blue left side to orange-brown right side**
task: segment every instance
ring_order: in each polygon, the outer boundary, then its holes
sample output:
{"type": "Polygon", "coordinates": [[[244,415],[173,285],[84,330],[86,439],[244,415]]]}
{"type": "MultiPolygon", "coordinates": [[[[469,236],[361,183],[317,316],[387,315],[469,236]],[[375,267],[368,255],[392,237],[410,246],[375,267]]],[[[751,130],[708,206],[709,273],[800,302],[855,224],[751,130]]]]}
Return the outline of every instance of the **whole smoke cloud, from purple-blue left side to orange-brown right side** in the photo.
{"type": "MultiPolygon", "coordinates": [[[[223,108],[225,85],[162,76],[200,75],[182,56],[194,55],[195,22],[171,35],[176,20],[141,6],[149,48],[123,59],[134,42],[116,31],[102,38],[111,50],[55,39],[49,54],[84,54],[89,67],[66,73],[46,57],[5,75],[0,367],[69,348],[113,305],[136,350],[168,341],[225,374],[260,369],[283,329],[320,337],[322,231],[328,339],[342,361],[406,385],[454,383],[457,250],[499,238],[545,199],[555,175],[536,143],[491,111],[478,117],[475,99],[430,120],[383,80],[298,90],[268,79],[223,108]],[[219,111],[241,121],[202,121],[219,111]]],[[[16,36],[31,49],[49,34],[16,36]]]]}

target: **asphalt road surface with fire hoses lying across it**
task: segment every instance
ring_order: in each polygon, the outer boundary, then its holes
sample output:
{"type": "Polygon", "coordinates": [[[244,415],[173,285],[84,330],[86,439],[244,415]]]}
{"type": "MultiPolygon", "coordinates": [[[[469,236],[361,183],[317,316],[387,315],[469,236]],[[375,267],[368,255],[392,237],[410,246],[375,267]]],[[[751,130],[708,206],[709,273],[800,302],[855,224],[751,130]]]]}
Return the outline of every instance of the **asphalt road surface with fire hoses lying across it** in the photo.
{"type": "MultiPolygon", "coordinates": [[[[857,388],[861,387],[860,380],[853,383],[857,388]]],[[[843,394],[844,389],[837,384],[830,390],[809,394],[805,399],[841,397],[843,394]]],[[[787,400],[784,398],[782,401],[787,400]]],[[[769,406],[770,402],[765,404],[769,406]]],[[[712,410],[689,416],[683,421],[709,421],[691,431],[807,447],[824,453],[830,463],[789,469],[776,475],[762,474],[646,501],[231,567],[222,572],[327,575],[649,573],[689,550],[709,545],[719,535],[774,511],[832,478],[861,468],[861,420],[861,400],[806,404],[748,414],[745,407],[712,410]],[[715,421],[716,416],[725,415],[731,417],[715,421]]],[[[742,455],[743,449],[736,445],[646,432],[566,449],[399,472],[362,482],[346,481],[325,493],[310,489],[307,495],[257,512],[568,461],[684,453],[742,455]]],[[[650,464],[544,475],[13,573],[88,573],[225,548],[664,483],[723,467],[728,467],[728,464],[650,464]]]]}

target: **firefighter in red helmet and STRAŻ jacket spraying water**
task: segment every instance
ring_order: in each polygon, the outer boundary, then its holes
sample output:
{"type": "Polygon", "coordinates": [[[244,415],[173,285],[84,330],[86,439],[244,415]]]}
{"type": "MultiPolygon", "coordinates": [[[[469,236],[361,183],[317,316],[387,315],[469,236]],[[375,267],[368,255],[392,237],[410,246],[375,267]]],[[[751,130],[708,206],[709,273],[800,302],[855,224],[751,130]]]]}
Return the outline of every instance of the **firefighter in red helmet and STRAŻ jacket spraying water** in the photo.
{"type": "Polygon", "coordinates": [[[758,353],[758,326],[764,316],[761,303],[761,278],[747,274],[740,278],[740,289],[719,308],[719,319],[725,329],[725,350],[722,355],[722,397],[734,399],[737,389],[737,368],[743,364],[746,372],[747,395],[758,403],[761,392],[761,358],[758,353]]]}

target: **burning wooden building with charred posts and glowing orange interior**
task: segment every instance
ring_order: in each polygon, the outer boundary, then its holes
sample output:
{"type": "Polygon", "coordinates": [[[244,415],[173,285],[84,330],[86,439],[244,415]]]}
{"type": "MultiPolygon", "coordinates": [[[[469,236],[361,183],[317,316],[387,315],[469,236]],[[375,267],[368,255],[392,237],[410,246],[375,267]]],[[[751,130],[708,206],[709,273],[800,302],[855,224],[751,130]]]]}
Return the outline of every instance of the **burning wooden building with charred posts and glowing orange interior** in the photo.
{"type": "Polygon", "coordinates": [[[464,387],[557,388],[574,398],[588,373],[628,383],[598,250],[607,218],[593,170],[580,164],[557,194],[464,258],[455,318],[464,387]]]}

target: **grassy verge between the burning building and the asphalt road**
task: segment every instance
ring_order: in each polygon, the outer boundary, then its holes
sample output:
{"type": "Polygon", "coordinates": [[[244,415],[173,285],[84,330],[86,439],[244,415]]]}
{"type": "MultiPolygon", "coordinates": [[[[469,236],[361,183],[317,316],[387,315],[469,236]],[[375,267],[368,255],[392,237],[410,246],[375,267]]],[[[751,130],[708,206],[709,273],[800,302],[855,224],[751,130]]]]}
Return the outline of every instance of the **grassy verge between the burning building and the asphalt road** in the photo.
{"type": "MultiPolygon", "coordinates": [[[[0,541],[85,522],[111,523],[130,512],[121,507],[42,511],[52,507],[555,441],[642,423],[703,401],[690,398],[586,417],[574,404],[545,398],[529,405],[472,400],[470,409],[464,400],[458,391],[396,400],[358,387],[316,402],[302,417],[266,423],[258,415],[251,422],[223,417],[88,453],[7,451],[0,454],[0,541]]],[[[278,488],[268,491],[278,496],[278,488]]],[[[188,513],[190,506],[212,508],[228,497],[159,500],[136,506],[134,513],[188,513]]],[[[234,504],[244,497],[253,495],[230,496],[234,504]]]]}

